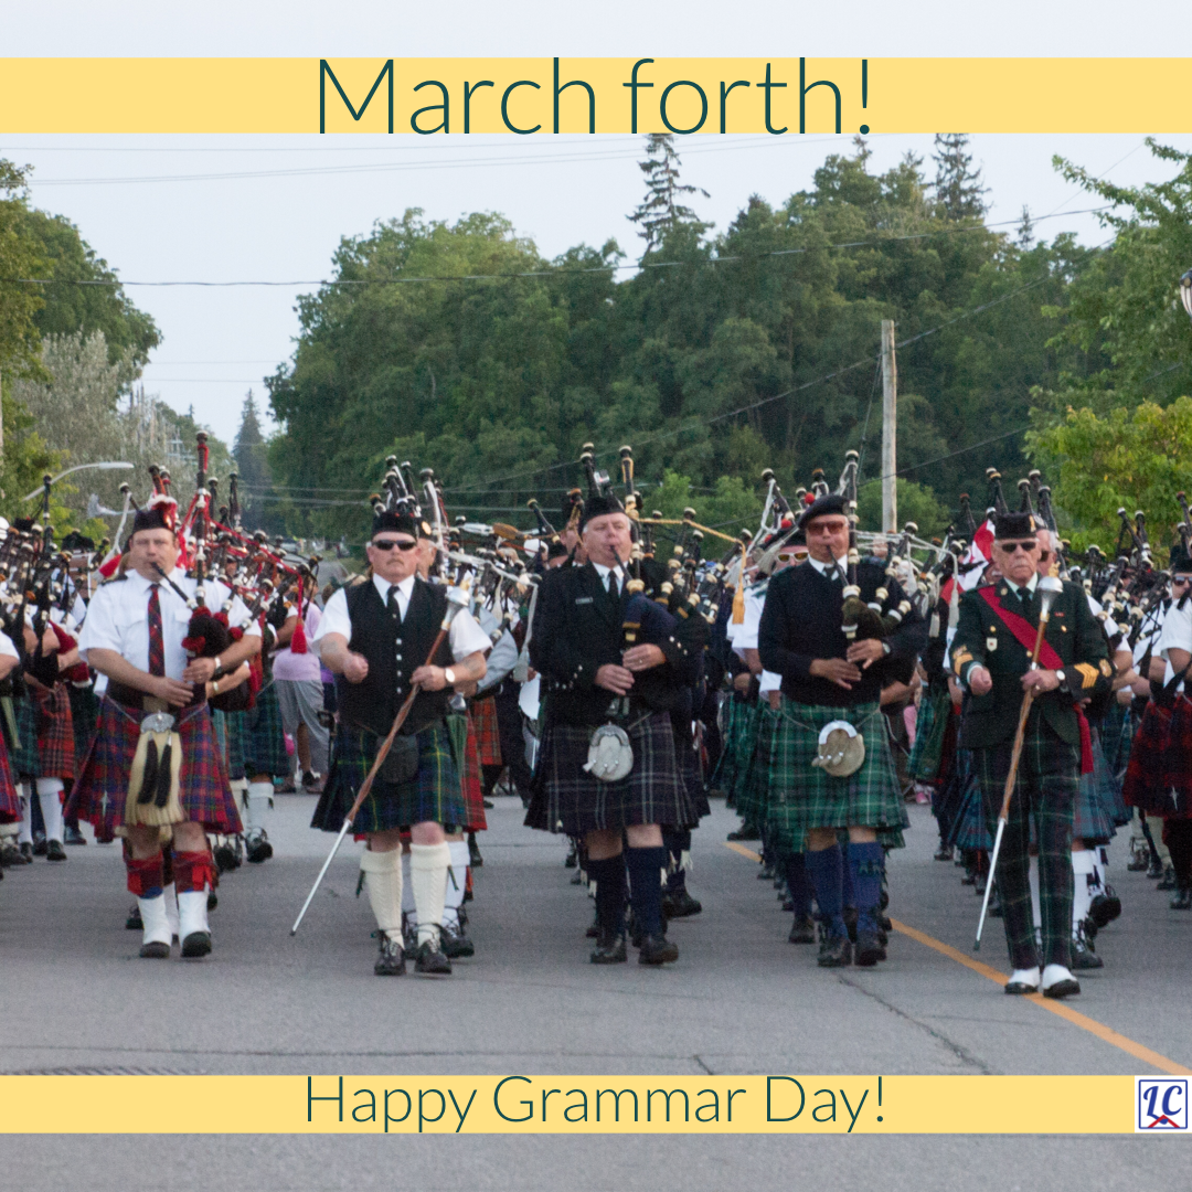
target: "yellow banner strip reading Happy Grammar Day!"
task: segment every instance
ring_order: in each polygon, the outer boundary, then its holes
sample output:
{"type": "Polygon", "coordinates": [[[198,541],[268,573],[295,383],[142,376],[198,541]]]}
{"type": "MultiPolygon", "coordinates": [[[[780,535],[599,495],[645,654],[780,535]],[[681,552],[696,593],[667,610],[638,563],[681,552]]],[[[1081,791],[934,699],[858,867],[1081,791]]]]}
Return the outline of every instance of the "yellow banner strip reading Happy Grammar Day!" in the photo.
{"type": "Polygon", "coordinates": [[[1172,1076],[0,1076],[4,1134],[1186,1134],[1172,1076]],[[135,1113],[129,1106],[139,1106],[135,1113]]]}

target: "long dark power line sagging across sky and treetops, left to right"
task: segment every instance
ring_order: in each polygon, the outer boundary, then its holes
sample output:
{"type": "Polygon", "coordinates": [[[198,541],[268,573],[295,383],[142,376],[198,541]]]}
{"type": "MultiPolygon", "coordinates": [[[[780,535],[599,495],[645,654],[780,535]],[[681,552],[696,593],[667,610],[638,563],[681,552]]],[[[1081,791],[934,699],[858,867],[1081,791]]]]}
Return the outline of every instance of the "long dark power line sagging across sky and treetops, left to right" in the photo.
{"type": "MultiPolygon", "coordinates": [[[[1088,215],[1095,211],[1107,211],[1113,204],[1103,204],[1099,207],[1087,207],[1082,211],[1064,211],[1062,216],[1088,215]]],[[[1039,217],[1042,222],[1043,217],[1039,217]]],[[[1054,216],[1051,218],[1061,218],[1054,216]]],[[[936,236],[971,235],[973,232],[988,231],[991,228],[1002,228],[1011,224],[1019,224],[1020,219],[1002,219],[997,223],[980,223],[960,228],[936,228],[931,231],[909,232],[905,236],[880,236],[874,240],[850,240],[832,244],[807,244],[801,248],[778,248],[768,253],[733,253],[726,256],[708,256],[695,261],[651,261],[642,259],[637,263],[625,265],[590,265],[582,267],[559,266],[544,269],[521,269],[515,273],[460,273],[460,274],[432,274],[424,277],[408,278],[331,278],[319,280],[294,280],[294,281],[122,281],[118,278],[0,278],[0,283],[11,285],[30,286],[150,286],[150,287],[176,287],[195,286],[200,288],[231,288],[242,286],[293,288],[297,286],[399,286],[414,285],[418,283],[437,281],[514,281],[521,278],[560,278],[569,275],[581,275],[590,273],[619,273],[626,269],[672,269],[693,268],[704,265],[731,265],[744,261],[762,261],[776,256],[801,256],[807,253],[822,253],[834,248],[870,248],[882,244],[896,244],[912,240],[931,240],[936,236]]]]}

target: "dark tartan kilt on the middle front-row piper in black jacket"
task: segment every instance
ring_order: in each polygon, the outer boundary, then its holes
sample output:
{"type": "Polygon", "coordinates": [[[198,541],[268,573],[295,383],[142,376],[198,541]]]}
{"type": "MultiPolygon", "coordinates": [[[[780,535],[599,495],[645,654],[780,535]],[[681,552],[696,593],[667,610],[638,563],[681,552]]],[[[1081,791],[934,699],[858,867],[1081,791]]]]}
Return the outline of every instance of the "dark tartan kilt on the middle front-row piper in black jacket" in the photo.
{"type": "Polygon", "coordinates": [[[595,732],[582,725],[551,725],[542,738],[540,772],[545,806],[526,817],[529,827],[567,836],[633,824],[679,827],[699,822],[675,758],[669,712],[638,713],[626,730],[633,769],[620,782],[601,782],[582,769],[595,732]]]}

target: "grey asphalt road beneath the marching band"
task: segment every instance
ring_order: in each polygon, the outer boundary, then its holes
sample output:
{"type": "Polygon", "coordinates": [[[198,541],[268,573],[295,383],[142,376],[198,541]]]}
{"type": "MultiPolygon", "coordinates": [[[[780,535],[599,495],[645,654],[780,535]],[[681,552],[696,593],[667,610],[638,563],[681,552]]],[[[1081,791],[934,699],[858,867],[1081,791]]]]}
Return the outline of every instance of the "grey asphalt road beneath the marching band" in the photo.
{"type": "MultiPolygon", "coordinates": [[[[116,846],[8,871],[0,884],[0,1072],[615,1074],[1147,1074],[1136,1055],[906,935],[876,969],[824,971],[786,942],[757,865],[725,845],[718,803],[695,833],[697,918],[675,923],[663,970],[586,963],[591,904],[564,845],[502,799],[480,837],[470,933],[447,980],[372,975],[366,900],[347,846],[297,938],[288,935],[330,837],[308,796],[281,796],[277,855],[224,879],[201,963],[142,962],[124,930],[116,846]]],[[[933,821],[912,808],[890,861],[890,914],[971,956],[979,900],[931,859],[933,821]]],[[[1095,1023],[1192,1066],[1192,914],[1167,909],[1112,852],[1125,906],[1098,938],[1105,968],[1072,1002],[1095,1023]]],[[[1000,921],[980,960],[1008,970],[1000,921]]],[[[632,954],[631,954],[632,955],[632,954]]],[[[130,1112],[136,1112],[130,1107],[130,1112]]],[[[1081,1190],[1187,1186],[1172,1140],[902,1136],[0,1136],[0,1185],[58,1190],[838,1188],[1081,1190]],[[399,1148],[399,1150],[397,1149],[399,1148]]]]}

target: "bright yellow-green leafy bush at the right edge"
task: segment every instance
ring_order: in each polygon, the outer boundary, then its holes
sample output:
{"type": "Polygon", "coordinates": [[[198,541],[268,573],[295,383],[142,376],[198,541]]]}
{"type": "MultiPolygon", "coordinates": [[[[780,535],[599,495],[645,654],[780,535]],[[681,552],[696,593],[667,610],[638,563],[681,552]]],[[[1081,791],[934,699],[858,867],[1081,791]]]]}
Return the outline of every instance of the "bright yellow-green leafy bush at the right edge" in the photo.
{"type": "MultiPolygon", "coordinates": [[[[1057,477],[1054,499],[1057,511],[1074,521],[1075,528],[1063,532],[1076,548],[1097,542],[1112,554],[1122,508],[1131,516],[1146,511],[1156,548],[1171,544],[1182,516],[1175,493],[1190,486],[1192,398],[1178,397],[1167,406],[1143,402],[1103,416],[1087,406],[1069,410],[1058,426],[1032,434],[1030,443],[1057,477]]],[[[1156,557],[1162,553],[1156,550],[1156,557]]]]}

